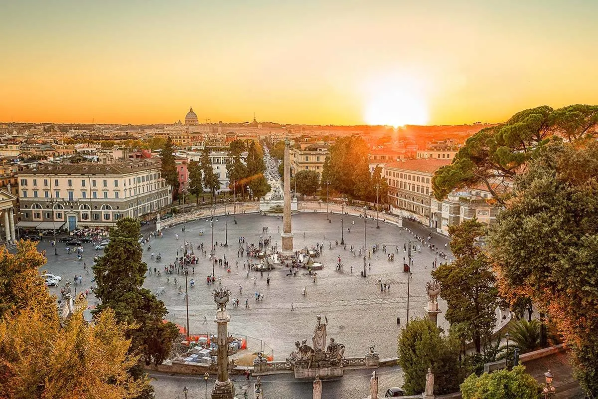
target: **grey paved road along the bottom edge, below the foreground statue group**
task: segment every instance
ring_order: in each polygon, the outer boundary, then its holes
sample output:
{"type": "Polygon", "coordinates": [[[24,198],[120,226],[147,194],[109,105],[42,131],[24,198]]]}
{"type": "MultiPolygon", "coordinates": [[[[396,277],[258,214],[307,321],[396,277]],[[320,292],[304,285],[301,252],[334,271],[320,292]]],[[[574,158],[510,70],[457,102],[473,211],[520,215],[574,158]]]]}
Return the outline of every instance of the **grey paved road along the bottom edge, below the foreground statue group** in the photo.
{"type": "MultiPolygon", "coordinates": [[[[343,377],[322,382],[322,399],[362,399],[369,395],[372,370],[345,370],[343,377]]],[[[384,397],[386,389],[391,386],[402,386],[404,380],[401,368],[383,367],[376,370],[379,377],[379,397],[384,397]]],[[[205,382],[203,376],[178,376],[164,373],[150,373],[152,385],[157,399],[184,398],[183,388],[187,386],[188,399],[205,398],[205,382]]],[[[248,398],[254,398],[255,378],[248,381],[244,376],[231,376],[236,388],[236,396],[243,398],[247,391],[248,398]]],[[[295,380],[293,374],[275,374],[260,377],[264,398],[311,398],[312,381],[295,380]]],[[[208,397],[214,385],[214,379],[208,380],[208,397]]]]}

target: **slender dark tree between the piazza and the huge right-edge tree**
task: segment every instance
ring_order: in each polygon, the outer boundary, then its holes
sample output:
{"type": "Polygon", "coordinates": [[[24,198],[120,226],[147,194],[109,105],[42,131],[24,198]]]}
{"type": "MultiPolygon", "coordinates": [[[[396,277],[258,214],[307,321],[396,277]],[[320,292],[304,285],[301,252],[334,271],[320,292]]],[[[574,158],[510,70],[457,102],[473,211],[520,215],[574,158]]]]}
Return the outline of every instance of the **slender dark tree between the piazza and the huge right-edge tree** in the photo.
{"type": "Polygon", "coordinates": [[[475,351],[481,352],[482,340],[489,341],[496,324],[498,304],[496,279],[490,261],[477,245],[484,235],[484,225],[476,219],[449,226],[451,251],[455,260],[432,272],[440,282],[440,296],[447,301],[445,318],[460,324],[473,340],[475,351]]]}

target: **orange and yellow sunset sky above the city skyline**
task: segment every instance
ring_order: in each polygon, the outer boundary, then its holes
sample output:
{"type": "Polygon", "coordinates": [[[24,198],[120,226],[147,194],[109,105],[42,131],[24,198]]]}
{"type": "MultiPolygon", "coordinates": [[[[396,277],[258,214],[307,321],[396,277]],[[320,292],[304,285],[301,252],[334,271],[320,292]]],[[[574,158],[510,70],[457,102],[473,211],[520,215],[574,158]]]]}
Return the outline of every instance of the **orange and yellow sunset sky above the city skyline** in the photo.
{"type": "Polygon", "coordinates": [[[460,124],[598,103],[598,1],[0,0],[0,122],[460,124]]]}

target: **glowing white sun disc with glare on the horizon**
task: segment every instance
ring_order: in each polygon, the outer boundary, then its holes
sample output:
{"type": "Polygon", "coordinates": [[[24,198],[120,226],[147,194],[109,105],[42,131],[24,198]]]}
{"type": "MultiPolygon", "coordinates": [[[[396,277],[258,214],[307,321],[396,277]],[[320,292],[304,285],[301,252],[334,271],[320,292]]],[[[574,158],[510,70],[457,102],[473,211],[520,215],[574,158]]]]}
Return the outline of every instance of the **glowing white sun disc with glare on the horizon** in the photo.
{"type": "Polygon", "coordinates": [[[388,78],[368,87],[364,119],[367,124],[404,126],[428,123],[423,88],[405,78],[388,78]]]}

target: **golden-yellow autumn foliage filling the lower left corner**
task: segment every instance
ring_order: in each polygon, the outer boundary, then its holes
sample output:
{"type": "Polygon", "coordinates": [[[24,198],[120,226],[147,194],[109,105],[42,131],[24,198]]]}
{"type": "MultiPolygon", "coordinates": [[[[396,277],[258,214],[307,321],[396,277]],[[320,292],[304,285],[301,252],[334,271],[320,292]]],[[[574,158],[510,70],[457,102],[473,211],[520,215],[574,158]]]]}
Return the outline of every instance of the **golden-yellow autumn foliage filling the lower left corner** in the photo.
{"type": "Polygon", "coordinates": [[[151,391],[147,378],[127,372],[138,355],[129,352],[129,326],[118,324],[112,310],[88,325],[79,304],[61,327],[56,298],[38,274],[44,261],[31,242],[18,243],[14,255],[0,248],[1,292],[17,293],[0,301],[1,396],[117,399],[151,391]]]}

